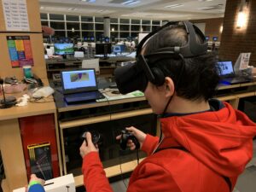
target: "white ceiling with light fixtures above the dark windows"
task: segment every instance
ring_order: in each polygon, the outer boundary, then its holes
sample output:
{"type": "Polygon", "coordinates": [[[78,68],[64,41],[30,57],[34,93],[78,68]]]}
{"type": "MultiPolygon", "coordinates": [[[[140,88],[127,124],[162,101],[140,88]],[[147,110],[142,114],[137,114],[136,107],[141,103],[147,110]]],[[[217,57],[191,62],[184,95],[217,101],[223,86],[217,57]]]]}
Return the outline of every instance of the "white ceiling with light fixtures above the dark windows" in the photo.
{"type": "Polygon", "coordinates": [[[224,17],[226,0],[96,0],[94,3],[81,0],[39,0],[39,2],[42,13],[151,20],[198,20],[224,17]]]}

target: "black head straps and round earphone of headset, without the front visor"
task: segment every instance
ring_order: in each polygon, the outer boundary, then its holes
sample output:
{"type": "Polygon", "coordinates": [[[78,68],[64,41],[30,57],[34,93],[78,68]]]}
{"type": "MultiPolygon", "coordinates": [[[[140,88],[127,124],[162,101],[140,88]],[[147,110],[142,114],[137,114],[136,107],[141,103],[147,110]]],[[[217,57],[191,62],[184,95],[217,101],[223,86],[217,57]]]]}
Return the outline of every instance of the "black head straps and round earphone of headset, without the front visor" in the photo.
{"type": "MultiPolygon", "coordinates": [[[[178,22],[169,22],[165,26],[161,26],[157,31],[151,32],[143,38],[143,40],[138,44],[137,47],[137,64],[143,68],[144,73],[147,75],[148,80],[157,86],[160,86],[165,83],[165,75],[158,67],[149,67],[148,61],[154,63],[156,61],[164,60],[167,58],[189,58],[198,55],[204,55],[207,52],[207,42],[203,44],[198,44],[196,42],[196,32],[201,36],[202,39],[205,39],[203,33],[189,21],[183,21],[183,26],[188,34],[188,44],[183,47],[166,47],[162,49],[157,49],[154,53],[149,55],[142,55],[143,45],[149,38],[152,38],[157,32],[160,32],[162,29],[167,26],[178,25],[178,22]]],[[[182,70],[183,71],[183,70],[182,70]]],[[[182,76],[182,75],[180,75],[182,76]]]]}

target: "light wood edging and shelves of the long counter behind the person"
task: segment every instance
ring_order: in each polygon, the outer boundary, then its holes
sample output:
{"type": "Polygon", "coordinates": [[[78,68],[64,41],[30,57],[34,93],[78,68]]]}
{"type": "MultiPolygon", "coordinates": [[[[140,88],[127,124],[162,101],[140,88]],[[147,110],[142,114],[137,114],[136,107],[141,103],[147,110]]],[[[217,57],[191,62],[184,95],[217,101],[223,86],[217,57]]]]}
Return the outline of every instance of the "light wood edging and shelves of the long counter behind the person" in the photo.
{"type": "MultiPolygon", "coordinates": [[[[226,90],[226,93],[224,95],[217,95],[216,98],[218,98],[220,101],[226,101],[230,102],[230,104],[233,106],[233,108],[238,108],[239,104],[239,99],[242,97],[246,96],[255,96],[255,87],[253,87],[253,91],[251,90],[246,90],[245,92],[233,92],[232,89],[240,88],[240,87],[251,87],[255,85],[255,83],[250,83],[250,84],[234,84],[234,85],[225,85],[225,84],[220,84],[218,87],[218,90],[226,90]],[[230,90],[232,90],[230,92],[230,90]]],[[[63,100],[63,97],[59,97],[60,100],[63,100]]],[[[58,101],[56,105],[58,106],[58,112],[59,113],[65,113],[68,111],[76,111],[79,110],[80,108],[100,108],[100,107],[106,107],[108,105],[114,105],[114,104],[119,104],[119,103],[125,103],[125,102],[138,102],[138,101],[144,101],[145,97],[136,97],[136,98],[130,98],[130,99],[122,99],[122,100],[116,100],[116,101],[109,101],[109,102],[94,102],[94,103],[89,103],[89,104],[81,104],[81,105],[73,105],[73,106],[67,106],[65,102],[60,102],[58,101]]],[[[60,135],[61,135],[61,148],[65,148],[64,145],[64,137],[63,137],[63,131],[73,129],[75,127],[79,127],[81,125],[91,125],[91,124],[96,124],[99,122],[107,122],[111,119],[125,119],[127,117],[136,117],[138,115],[142,114],[149,114],[152,113],[151,108],[143,108],[143,109],[137,109],[134,111],[126,111],[126,112],[121,112],[121,113],[112,113],[111,117],[108,114],[103,114],[95,117],[87,117],[83,119],[74,119],[74,120],[68,120],[68,121],[60,121],[59,120],[59,126],[60,126],[60,135]]],[[[160,132],[160,122],[157,122],[157,135],[159,135],[160,132]]],[[[62,150],[62,159],[65,159],[65,150],[62,150]]],[[[122,169],[123,173],[125,172],[131,172],[135,167],[137,166],[136,160],[132,160],[129,162],[125,162],[122,164],[122,169]]],[[[111,166],[108,168],[104,169],[105,172],[107,173],[107,177],[114,177],[117,176],[120,173],[119,170],[119,165],[116,166],[111,166]]],[[[67,174],[67,167],[63,166],[63,171],[64,174],[67,174]]],[[[76,186],[81,186],[83,185],[83,176],[79,175],[75,177],[75,183],[76,186]]]]}

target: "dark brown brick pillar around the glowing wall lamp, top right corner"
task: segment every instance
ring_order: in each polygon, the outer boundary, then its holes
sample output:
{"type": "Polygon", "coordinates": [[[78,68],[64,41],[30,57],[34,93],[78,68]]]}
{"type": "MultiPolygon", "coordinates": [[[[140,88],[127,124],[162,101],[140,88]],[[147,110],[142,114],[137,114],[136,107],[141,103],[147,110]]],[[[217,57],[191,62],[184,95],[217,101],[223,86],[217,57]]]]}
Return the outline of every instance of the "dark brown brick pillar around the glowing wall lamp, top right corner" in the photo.
{"type": "Polygon", "coordinates": [[[250,64],[256,67],[256,1],[250,0],[247,5],[247,26],[236,28],[236,15],[239,12],[241,0],[227,0],[224,15],[224,25],[219,58],[230,60],[235,64],[241,52],[251,52],[250,64]]]}

